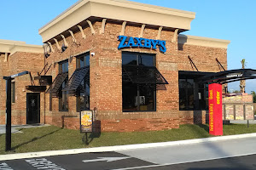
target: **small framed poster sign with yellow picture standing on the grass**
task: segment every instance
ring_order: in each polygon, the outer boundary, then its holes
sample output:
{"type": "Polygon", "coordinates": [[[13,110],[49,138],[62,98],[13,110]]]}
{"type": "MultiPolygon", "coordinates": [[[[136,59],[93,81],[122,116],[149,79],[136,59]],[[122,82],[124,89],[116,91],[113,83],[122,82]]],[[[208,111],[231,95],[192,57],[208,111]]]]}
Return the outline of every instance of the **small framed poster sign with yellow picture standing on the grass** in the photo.
{"type": "Polygon", "coordinates": [[[84,133],[83,141],[85,144],[88,143],[87,133],[92,133],[93,125],[93,114],[92,111],[81,111],[80,112],[80,133],[84,133]]]}

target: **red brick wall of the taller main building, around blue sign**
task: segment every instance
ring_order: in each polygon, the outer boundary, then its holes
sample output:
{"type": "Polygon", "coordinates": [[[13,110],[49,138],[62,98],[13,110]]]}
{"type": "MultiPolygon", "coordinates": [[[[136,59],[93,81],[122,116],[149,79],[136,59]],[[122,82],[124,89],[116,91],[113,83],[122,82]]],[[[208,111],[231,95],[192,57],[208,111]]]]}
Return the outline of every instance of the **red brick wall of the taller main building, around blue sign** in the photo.
{"type": "MultiPolygon", "coordinates": [[[[73,56],[90,51],[95,53],[95,56],[90,57],[90,109],[97,109],[97,125],[102,131],[163,130],[177,128],[184,122],[193,123],[195,114],[179,111],[178,71],[193,71],[188,55],[193,59],[199,71],[218,71],[215,58],[217,57],[226,67],[226,49],[183,45],[183,50],[178,50],[177,41],[171,41],[174,32],[163,29],[160,40],[166,41],[166,54],[160,53],[159,49],[118,50],[117,37],[122,26],[107,21],[105,33],[99,34],[101,26],[101,21],[93,23],[95,35],[91,35],[90,27],[85,27],[85,39],[82,38],[80,32],[74,32],[77,44],[73,42],[72,37],[66,37],[68,48],[63,53],[56,48],[55,42],[52,42],[55,52],[51,53],[45,61],[49,65],[52,64],[47,75],[52,75],[54,80],[58,74],[58,62],[69,59],[69,77],[71,77],[76,69],[76,59],[73,56]],[[166,90],[156,92],[155,112],[122,112],[122,51],[156,54],[156,67],[169,84],[166,85],[166,90]]],[[[140,26],[131,26],[127,23],[125,36],[138,37],[140,31],[140,26]]],[[[157,29],[146,26],[143,37],[155,39],[157,33],[157,29]]],[[[62,43],[61,40],[60,46],[62,43]]],[[[52,100],[52,111],[49,111],[49,94],[45,95],[45,101],[44,108],[42,108],[44,103],[42,93],[41,122],[44,120],[45,123],[60,127],[79,128],[79,112],[76,111],[75,97],[69,97],[67,112],[59,111],[59,101],[56,98],[52,100]]],[[[200,114],[197,113],[196,116],[198,115],[200,114]]],[[[203,113],[201,115],[204,116],[203,113]]]]}

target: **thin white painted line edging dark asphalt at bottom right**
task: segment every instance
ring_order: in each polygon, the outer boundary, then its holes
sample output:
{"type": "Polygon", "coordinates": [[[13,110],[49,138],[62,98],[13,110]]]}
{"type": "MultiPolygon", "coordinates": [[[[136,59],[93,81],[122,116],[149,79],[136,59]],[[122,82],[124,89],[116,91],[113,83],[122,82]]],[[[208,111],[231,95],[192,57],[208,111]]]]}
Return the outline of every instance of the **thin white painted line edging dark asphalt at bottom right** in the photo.
{"type": "Polygon", "coordinates": [[[181,164],[181,163],[192,163],[192,162],[197,162],[197,161],[212,161],[212,160],[231,158],[231,157],[251,156],[254,154],[256,154],[256,153],[243,154],[243,155],[237,155],[237,156],[219,156],[219,157],[214,157],[211,159],[201,159],[201,160],[196,160],[196,161],[179,161],[179,162],[175,162],[175,163],[165,163],[165,164],[161,164],[161,165],[148,165],[148,166],[141,166],[141,167],[125,167],[125,168],[111,169],[111,170],[130,170],[130,169],[141,169],[141,168],[148,168],[148,167],[166,167],[166,166],[177,165],[177,164],[181,164]]]}

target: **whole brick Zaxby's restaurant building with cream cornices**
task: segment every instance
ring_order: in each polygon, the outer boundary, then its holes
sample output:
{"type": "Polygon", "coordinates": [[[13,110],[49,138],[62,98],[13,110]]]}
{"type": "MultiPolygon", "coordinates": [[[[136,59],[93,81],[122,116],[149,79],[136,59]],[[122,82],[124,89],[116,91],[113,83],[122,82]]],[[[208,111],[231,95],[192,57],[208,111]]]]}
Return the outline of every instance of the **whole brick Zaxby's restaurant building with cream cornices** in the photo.
{"type": "Polygon", "coordinates": [[[39,29],[44,46],[0,40],[0,76],[31,72],[12,82],[12,122],[79,128],[81,110],[96,110],[102,131],[205,122],[207,84],[196,79],[220,71],[216,59],[227,68],[230,41],[183,35],[194,19],[143,3],[80,0],[39,29]]]}

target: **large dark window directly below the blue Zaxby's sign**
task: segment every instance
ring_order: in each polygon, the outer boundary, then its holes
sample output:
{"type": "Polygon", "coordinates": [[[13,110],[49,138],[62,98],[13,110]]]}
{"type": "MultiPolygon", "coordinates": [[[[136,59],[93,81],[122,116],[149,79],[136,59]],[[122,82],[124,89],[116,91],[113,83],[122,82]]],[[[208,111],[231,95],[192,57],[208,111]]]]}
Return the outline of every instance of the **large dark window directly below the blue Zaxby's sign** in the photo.
{"type": "MultiPolygon", "coordinates": [[[[150,68],[154,67],[154,54],[137,54],[137,53],[123,53],[123,82],[122,82],[122,97],[123,97],[123,111],[155,111],[155,89],[156,83],[136,83],[125,81],[125,66],[133,65],[138,77],[147,77],[147,73],[153,73],[150,68]]],[[[139,81],[139,80],[138,80],[139,81]]],[[[146,80],[145,80],[146,82],[146,80]]]]}

